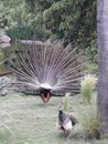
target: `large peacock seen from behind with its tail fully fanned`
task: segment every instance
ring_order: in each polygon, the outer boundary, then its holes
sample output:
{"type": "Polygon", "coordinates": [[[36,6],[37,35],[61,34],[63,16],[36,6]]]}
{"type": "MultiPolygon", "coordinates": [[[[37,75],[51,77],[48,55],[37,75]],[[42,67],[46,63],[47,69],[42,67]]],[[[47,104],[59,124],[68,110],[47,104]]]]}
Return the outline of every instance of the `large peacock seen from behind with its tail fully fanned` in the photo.
{"type": "Polygon", "coordinates": [[[14,51],[4,65],[12,72],[20,91],[34,91],[46,103],[52,95],[72,94],[80,90],[85,63],[78,49],[62,42],[31,44],[14,51]]]}

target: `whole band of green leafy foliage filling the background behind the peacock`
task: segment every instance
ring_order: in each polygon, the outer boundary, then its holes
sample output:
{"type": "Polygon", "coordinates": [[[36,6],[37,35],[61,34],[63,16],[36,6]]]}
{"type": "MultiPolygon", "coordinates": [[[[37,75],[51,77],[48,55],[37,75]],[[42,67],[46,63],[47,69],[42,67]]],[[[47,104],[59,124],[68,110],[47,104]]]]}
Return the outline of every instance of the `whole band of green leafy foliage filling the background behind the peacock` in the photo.
{"type": "Polygon", "coordinates": [[[65,39],[97,62],[96,0],[0,0],[0,28],[14,39],[65,39]]]}

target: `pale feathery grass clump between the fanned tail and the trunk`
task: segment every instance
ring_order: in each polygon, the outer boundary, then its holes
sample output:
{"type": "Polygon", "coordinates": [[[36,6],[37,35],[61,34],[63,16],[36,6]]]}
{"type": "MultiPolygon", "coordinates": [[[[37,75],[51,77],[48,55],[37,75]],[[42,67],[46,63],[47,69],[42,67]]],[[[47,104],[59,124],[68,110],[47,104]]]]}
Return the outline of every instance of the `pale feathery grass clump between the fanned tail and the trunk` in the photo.
{"type": "Polygon", "coordinates": [[[93,91],[96,89],[97,78],[91,74],[87,74],[80,82],[80,95],[84,102],[90,103],[93,91]]]}

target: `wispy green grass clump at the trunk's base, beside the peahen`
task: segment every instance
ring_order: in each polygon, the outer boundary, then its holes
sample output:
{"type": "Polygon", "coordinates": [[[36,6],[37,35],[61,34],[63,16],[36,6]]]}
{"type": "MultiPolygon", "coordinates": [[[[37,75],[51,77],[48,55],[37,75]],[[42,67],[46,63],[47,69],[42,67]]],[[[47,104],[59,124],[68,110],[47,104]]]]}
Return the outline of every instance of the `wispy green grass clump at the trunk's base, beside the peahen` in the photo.
{"type": "Polygon", "coordinates": [[[96,106],[90,105],[82,113],[80,126],[86,138],[100,138],[100,121],[96,106]]]}

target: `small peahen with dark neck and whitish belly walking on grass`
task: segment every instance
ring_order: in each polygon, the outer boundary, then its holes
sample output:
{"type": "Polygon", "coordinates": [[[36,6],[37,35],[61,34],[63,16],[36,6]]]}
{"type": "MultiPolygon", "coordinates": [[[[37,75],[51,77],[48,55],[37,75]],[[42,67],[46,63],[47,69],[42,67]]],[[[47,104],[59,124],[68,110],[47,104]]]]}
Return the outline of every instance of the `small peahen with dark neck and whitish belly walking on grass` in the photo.
{"type": "Polygon", "coordinates": [[[58,110],[58,121],[57,121],[57,128],[64,131],[66,137],[72,135],[72,130],[78,123],[77,119],[74,117],[72,114],[64,113],[63,110],[60,107],[58,110]]]}

